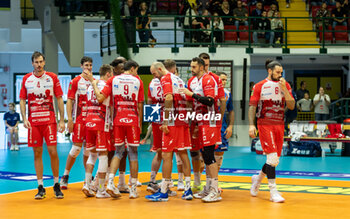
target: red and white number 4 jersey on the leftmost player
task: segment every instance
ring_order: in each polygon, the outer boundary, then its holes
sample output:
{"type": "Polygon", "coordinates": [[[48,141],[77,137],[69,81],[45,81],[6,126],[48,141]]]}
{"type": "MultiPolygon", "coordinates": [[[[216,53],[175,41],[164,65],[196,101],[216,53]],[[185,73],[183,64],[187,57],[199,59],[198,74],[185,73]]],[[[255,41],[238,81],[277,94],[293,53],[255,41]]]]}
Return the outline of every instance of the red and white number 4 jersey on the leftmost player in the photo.
{"type": "Polygon", "coordinates": [[[37,77],[33,72],[23,77],[20,99],[28,99],[28,120],[31,125],[56,123],[53,95],[63,95],[60,81],[52,72],[37,77]]]}

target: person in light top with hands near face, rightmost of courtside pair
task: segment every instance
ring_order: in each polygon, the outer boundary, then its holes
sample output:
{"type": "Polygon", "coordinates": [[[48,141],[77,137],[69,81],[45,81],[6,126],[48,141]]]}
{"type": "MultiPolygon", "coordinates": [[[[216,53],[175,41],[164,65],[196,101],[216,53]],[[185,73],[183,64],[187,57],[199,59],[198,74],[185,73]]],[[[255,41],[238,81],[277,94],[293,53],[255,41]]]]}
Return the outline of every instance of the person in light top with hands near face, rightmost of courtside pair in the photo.
{"type": "Polygon", "coordinates": [[[331,104],[331,98],[324,93],[323,87],[320,87],[318,94],[314,97],[315,106],[315,120],[322,121],[329,119],[329,105],[331,104]]]}

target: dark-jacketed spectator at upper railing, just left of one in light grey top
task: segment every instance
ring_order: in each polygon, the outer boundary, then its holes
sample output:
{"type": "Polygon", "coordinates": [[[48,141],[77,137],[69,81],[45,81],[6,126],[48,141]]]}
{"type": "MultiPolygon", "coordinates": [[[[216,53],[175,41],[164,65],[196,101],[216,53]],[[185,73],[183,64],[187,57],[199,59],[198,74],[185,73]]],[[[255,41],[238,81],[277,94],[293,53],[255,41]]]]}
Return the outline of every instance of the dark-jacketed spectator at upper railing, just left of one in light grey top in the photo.
{"type": "Polygon", "coordinates": [[[271,22],[267,19],[267,12],[263,11],[261,14],[261,18],[259,18],[254,24],[254,33],[253,33],[253,42],[254,44],[258,43],[258,36],[265,37],[265,40],[269,42],[270,46],[273,44],[273,40],[275,38],[274,32],[268,32],[271,30],[271,22]]]}

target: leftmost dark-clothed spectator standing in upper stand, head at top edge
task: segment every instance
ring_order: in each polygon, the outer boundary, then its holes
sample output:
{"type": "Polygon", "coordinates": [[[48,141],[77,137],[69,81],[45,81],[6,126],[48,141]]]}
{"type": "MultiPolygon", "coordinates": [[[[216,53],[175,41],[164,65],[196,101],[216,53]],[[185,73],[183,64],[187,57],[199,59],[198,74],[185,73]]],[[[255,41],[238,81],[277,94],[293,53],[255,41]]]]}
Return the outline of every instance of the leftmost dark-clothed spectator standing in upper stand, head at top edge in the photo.
{"type": "Polygon", "coordinates": [[[126,40],[128,42],[128,46],[132,47],[132,44],[136,42],[135,38],[135,16],[137,16],[137,8],[134,5],[133,0],[127,0],[124,2],[121,7],[120,15],[122,16],[122,20],[124,23],[124,29],[126,35],[126,40]]]}

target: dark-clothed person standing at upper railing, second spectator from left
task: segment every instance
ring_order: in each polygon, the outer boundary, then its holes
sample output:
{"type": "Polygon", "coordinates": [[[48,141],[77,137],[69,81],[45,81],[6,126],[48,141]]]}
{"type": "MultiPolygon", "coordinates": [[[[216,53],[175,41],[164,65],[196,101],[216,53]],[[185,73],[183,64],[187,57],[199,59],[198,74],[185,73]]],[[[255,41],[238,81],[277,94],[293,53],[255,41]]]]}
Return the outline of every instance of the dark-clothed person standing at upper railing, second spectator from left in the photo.
{"type": "Polygon", "coordinates": [[[148,40],[150,35],[149,24],[151,23],[151,18],[149,16],[150,14],[147,10],[146,2],[141,2],[140,11],[136,17],[136,29],[138,29],[141,42],[140,47],[148,47],[148,40]]]}

